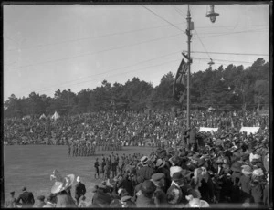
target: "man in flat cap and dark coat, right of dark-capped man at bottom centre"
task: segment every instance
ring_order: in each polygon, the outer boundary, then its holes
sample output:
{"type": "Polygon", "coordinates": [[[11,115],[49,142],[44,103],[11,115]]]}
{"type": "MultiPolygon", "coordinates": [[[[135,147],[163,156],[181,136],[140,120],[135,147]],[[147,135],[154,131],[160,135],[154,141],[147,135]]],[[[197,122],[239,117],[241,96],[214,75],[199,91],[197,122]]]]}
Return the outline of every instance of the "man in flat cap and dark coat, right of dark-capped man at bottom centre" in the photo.
{"type": "Polygon", "coordinates": [[[167,204],[166,194],[164,193],[166,190],[164,178],[164,173],[154,173],[152,175],[151,181],[156,186],[156,190],[154,192],[154,203],[156,207],[164,207],[167,204]]]}

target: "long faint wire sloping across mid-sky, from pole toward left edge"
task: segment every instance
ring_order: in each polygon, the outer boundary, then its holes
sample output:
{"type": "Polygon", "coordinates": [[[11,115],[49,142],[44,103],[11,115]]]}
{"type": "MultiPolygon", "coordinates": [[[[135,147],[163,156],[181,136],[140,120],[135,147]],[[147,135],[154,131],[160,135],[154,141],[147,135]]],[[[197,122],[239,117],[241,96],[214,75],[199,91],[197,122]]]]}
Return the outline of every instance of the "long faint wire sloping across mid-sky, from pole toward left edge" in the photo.
{"type": "Polygon", "coordinates": [[[97,51],[97,52],[85,53],[85,54],[81,54],[81,55],[74,56],[74,57],[60,58],[60,59],[55,59],[55,60],[38,62],[36,64],[31,64],[31,65],[25,65],[25,66],[21,66],[21,67],[11,68],[11,70],[9,70],[9,72],[12,72],[12,71],[14,71],[13,69],[17,69],[17,68],[26,68],[26,67],[36,66],[38,64],[54,63],[54,62],[58,62],[58,61],[62,61],[62,60],[68,60],[68,59],[71,59],[71,58],[79,58],[79,57],[84,57],[84,56],[90,56],[90,55],[99,54],[99,53],[102,53],[102,52],[107,52],[107,51],[111,51],[111,50],[115,50],[115,49],[120,49],[120,48],[125,48],[125,47],[132,47],[132,46],[136,46],[136,45],[141,45],[141,44],[144,44],[144,43],[153,42],[153,41],[161,40],[161,39],[164,39],[164,38],[177,37],[179,35],[181,35],[181,34],[176,34],[176,35],[169,36],[169,37],[154,38],[154,39],[151,39],[151,40],[142,41],[142,42],[135,43],[135,44],[132,44],[132,45],[125,45],[125,46],[120,46],[120,47],[112,47],[112,48],[109,48],[109,49],[103,49],[103,50],[100,50],[100,51],[97,51]]]}

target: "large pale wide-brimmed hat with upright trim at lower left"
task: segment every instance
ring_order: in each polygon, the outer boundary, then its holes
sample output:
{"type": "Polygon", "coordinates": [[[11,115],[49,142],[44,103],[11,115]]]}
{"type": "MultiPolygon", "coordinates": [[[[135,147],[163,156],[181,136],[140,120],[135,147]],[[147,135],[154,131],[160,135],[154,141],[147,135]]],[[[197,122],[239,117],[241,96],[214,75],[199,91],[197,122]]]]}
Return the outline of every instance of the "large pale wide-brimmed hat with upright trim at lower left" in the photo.
{"type": "Polygon", "coordinates": [[[74,174],[69,174],[65,177],[58,172],[58,170],[54,170],[53,173],[50,175],[50,180],[55,180],[55,184],[51,187],[51,193],[57,194],[61,191],[64,191],[70,187],[75,179],[74,174]]]}

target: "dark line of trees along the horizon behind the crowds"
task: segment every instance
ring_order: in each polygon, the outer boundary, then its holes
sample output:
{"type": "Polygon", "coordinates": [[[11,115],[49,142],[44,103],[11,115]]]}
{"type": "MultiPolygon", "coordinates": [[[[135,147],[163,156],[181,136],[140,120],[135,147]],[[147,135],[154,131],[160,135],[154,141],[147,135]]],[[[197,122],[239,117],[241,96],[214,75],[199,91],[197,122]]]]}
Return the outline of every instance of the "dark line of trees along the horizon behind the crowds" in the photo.
{"type": "MultiPolygon", "coordinates": [[[[42,113],[62,115],[117,110],[174,110],[185,109],[173,98],[175,69],[163,75],[156,87],[136,77],[125,84],[113,85],[103,80],[100,87],[55,91],[54,97],[31,92],[28,97],[12,94],[4,102],[5,117],[37,116],[42,113]]],[[[211,67],[191,74],[190,100],[195,110],[251,110],[269,109],[269,62],[258,58],[250,67],[230,64],[227,68],[211,67]]]]}

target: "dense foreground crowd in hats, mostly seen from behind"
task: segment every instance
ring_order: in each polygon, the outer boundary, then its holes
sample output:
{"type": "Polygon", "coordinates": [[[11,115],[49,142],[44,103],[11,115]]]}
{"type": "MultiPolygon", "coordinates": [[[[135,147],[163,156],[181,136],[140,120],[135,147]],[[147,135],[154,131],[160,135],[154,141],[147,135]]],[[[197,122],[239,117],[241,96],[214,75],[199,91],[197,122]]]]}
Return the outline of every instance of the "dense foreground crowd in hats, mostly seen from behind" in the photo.
{"type": "Polygon", "coordinates": [[[17,198],[11,192],[6,206],[269,207],[268,132],[220,135],[191,128],[183,134],[182,146],[157,147],[147,155],[111,152],[97,158],[94,178],[102,182],[92,189],[91,203],[86,202],[86,187],[79,177],[74,189],[74,174],[63,176],[54,170],[51,192],[35,201],[24,187],[17,198]]]}

